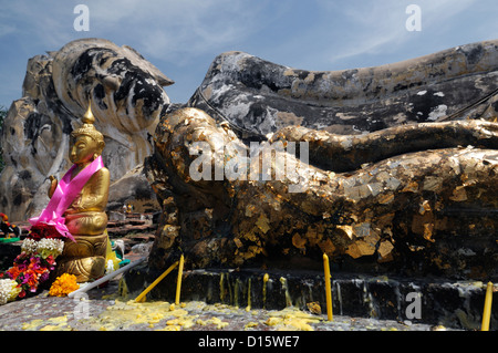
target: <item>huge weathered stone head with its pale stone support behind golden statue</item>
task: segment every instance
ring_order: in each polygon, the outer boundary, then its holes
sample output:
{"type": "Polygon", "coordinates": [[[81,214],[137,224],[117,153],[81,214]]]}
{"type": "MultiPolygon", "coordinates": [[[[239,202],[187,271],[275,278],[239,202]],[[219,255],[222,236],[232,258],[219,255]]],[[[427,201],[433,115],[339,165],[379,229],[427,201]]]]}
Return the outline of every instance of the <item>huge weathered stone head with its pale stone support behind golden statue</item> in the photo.
{"type": "MultiPolygon", "coordinates": [[[[169,104],[162,86],[172,83],[133,49],[101,39],[76,40],[30,59],[23,97],[12,103],[1,138],[2,211],[24,220],[44,208],[48,177],[60,178],[70,166],[69,134],[79,126],[89,97],[95,126],[105,137],[103,158],[112,181],[141,165],[152,152],[149,137],[158,117],[169,104]]],[[[132,189],[142,190],[144,183],[127,186],[134,194],[132,189]]]]}

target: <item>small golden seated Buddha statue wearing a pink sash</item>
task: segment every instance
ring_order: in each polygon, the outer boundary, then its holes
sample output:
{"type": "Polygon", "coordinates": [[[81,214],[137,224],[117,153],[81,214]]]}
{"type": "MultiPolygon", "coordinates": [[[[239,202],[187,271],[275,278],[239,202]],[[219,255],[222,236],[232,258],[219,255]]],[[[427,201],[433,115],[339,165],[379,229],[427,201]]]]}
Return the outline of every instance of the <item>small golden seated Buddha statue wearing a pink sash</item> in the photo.
{"type": "MultiPolygon", "coordinates": [[[[83,125],[71,133],[69,157],[74,164],[71,179],[100,158],[105,146],[104,136],[93,125],[95,118],[90,105],[82,121],[83,125]]],[[[59,181],[53,176],[50,179],[49,197],[52,197],[59,181]]],[[[64,251],[58,258],[56,276],[71,273],[77,282],[86,282],[104,274],[108,188],[110,172],[102,165],[64,211],[65,226],[75,241],[65,240],[64,251]]]]}

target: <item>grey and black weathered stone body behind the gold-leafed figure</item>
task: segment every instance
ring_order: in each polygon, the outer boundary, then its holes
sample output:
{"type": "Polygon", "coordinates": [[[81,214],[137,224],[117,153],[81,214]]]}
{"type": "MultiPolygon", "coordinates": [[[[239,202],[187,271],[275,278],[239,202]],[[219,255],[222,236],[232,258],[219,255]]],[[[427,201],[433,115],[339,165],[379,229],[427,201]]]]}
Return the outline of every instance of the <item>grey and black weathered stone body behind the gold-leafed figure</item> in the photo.
{"type": "Polygon", "coordinates": [[[189,105],[241,136],[302,125],[334,134],[406,123],[492,118],[498,111],[498,41],[343,71],[295,70],[243,52],[215,59],[189,105]]]}

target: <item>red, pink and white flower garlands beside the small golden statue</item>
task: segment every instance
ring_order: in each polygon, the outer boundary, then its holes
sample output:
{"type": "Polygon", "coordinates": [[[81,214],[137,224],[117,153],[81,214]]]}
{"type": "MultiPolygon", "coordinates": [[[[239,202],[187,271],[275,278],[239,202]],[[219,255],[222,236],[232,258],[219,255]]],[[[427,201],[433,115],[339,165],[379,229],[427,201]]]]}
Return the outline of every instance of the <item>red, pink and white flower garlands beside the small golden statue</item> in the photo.
{"type": "Polygon", "coordinates": [[[0,304],[35,293],[55,269],[55,259],[63,249],[64,241],[53,227],[41,224],[31,228],[13,266],[0,273],[0,304]]]}

